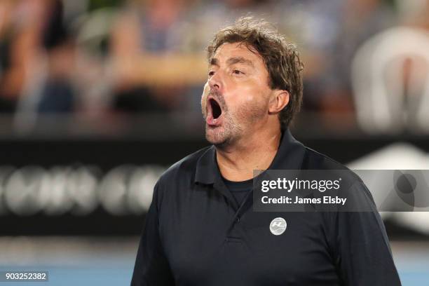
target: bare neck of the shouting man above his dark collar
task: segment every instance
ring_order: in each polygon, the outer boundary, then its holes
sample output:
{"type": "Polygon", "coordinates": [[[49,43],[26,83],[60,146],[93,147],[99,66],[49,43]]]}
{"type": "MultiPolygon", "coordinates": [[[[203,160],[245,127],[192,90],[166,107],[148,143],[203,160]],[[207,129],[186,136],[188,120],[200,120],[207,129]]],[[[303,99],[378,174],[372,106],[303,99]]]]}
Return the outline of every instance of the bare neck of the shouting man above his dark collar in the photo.
{"type": "Polygon", "coordinates": [[[254,170],[266,170],[280,145],[281,132],[264,130],[243,137],[233,146],[216,147],[219,170],[225,179],[245,181],[254,177],[254,170]]]}

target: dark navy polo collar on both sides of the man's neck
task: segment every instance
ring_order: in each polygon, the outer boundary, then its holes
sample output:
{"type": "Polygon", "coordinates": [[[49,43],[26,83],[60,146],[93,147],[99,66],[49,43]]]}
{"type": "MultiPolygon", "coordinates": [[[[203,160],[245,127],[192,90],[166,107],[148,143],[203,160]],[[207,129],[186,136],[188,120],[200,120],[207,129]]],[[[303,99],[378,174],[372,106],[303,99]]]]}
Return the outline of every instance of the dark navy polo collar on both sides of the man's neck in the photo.
{"type": "MultiPolygon", "coordinates": [[[[280,146],[268,170],[300,170],[304,161],[305,147],[287,129],[282,134],[280,146]]],[[[211,146],[198,159],[195,182],[214,184],[220,178],[216,161],[216,148],[211,146]]]]}

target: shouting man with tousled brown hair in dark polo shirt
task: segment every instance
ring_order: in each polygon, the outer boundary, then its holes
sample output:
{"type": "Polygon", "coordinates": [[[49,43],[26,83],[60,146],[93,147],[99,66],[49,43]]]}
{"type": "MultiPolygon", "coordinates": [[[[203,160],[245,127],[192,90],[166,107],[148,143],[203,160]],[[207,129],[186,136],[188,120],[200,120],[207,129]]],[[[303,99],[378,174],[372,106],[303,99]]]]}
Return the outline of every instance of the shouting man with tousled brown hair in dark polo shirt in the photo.
{"type": "MultiPolygon", "coordinates": [[[[254,170],[344,169],[287,129],[302,97],[295,46],[242,18],[207,50],[201,103],[213,145],[156,184],[131,284],[400,285],[375,210],[252,210],[254,170]]],[[[372,207],[365,185],[353,186],[372,207]]]]}

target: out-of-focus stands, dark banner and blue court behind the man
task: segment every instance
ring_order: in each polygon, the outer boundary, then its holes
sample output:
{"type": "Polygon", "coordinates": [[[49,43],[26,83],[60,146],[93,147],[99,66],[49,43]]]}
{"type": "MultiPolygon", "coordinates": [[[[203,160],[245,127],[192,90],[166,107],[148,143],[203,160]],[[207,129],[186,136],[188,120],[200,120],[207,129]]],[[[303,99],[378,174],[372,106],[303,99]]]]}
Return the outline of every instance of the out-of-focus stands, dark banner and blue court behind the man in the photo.
{"type": "MultiPolygon", "coordinates": [[[[205,47],[249,13],[301,50],[297,139],[429,169],[428,0],[0,0],[0,270],[130,283],[156,180],[207,146],[205,47]]],[[[403,285],[429,285],[428,212],[382,215],[403,285]]]]}

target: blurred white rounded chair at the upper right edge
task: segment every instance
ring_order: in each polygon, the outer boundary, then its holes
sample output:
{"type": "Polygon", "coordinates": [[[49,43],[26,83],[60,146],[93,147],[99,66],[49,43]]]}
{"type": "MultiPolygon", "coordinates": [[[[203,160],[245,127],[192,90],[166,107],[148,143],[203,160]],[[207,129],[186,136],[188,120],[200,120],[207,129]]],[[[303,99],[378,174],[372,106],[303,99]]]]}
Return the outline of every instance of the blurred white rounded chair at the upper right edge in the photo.
{"type": "Polygon", "coordinates": [[[402,25],[372,36],[355,55],[356,113],[367,132],[429,131],[428,4],[401,4],[402,25]]]}

